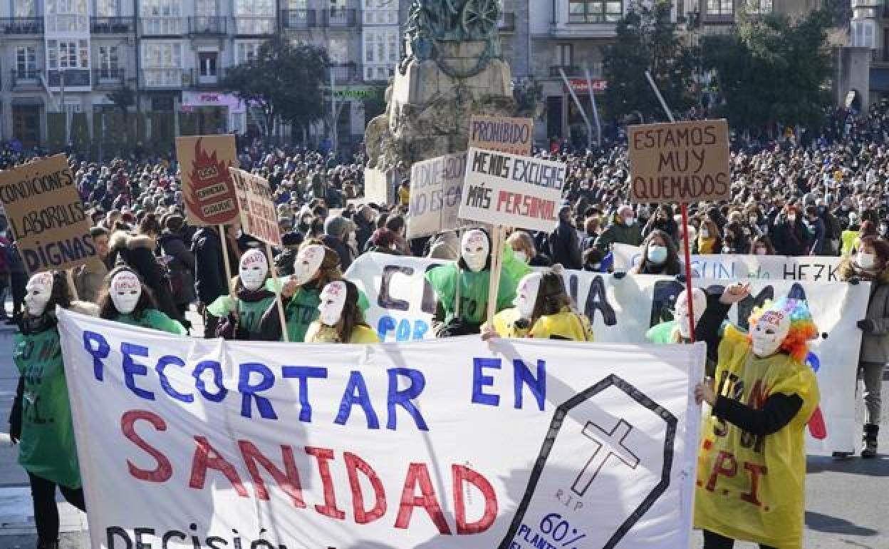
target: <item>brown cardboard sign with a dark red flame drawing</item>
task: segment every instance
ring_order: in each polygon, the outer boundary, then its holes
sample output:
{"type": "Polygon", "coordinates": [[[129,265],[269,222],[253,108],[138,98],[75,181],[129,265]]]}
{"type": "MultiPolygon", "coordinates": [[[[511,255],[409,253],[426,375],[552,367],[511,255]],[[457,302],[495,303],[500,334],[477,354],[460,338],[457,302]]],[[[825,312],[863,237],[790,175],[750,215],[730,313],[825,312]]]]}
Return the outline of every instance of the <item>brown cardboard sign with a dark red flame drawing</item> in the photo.
{"type": "Polygon", "coordinates": [[[188,222],[223,225],[236,221],[235,183],[228,173],[229,167],[237,167],[235,136],[177,137],[176,157],[188,222]]]}

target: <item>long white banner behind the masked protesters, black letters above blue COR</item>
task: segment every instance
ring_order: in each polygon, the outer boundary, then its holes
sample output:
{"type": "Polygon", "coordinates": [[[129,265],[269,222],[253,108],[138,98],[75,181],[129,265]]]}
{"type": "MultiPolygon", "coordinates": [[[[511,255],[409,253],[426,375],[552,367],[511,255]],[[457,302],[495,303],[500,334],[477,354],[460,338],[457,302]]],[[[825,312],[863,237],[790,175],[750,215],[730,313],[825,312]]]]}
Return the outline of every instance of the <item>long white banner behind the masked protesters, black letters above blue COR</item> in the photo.
{"type": "MultiPolygon", "coordinates": [[[[423,273],[442,262],[364,254],[352,263],[347,276],[371,302],[368,324],[384,341],[433,337],[431,323],[436,298],[423,273]]],[[[748,279],[752,295],[732,308],[730,319],[741,327],[753,307],[781,295],[804,297],[809,302],[821,339],[812,343],[811,361],[821,386],[824,429],[813,424],[809,450],[830,453],[852,451],[860,432],[855,422],[855,375],[861,347],[861,330],[855,323],[868,307],[869,284],[809,282],[783,279],[748,279]]],[[[695,279],[697,287],[716,287],[729,280],[695,279]]],[[[645,343],[645,332],[663,320],[677,295],[685,288],[671,277],[612,275],[565,271],[565,287],[579,309],[589,316],[597,342],[645,343]]],[[[817,418],[816,418],[817,421],[817,418]]]]}

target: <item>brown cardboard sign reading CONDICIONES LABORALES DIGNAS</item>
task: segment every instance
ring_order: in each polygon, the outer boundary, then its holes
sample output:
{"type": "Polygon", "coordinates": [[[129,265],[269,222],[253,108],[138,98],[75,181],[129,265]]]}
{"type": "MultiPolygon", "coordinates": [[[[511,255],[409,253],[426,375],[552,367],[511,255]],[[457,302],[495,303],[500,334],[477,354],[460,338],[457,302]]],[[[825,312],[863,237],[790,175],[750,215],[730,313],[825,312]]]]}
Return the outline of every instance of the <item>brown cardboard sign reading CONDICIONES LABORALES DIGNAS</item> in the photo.
{"type": "Polygon", "coordinates": [[[0,201],[29,274],[100,262],[65,155],[0,170],[0,201]]]}

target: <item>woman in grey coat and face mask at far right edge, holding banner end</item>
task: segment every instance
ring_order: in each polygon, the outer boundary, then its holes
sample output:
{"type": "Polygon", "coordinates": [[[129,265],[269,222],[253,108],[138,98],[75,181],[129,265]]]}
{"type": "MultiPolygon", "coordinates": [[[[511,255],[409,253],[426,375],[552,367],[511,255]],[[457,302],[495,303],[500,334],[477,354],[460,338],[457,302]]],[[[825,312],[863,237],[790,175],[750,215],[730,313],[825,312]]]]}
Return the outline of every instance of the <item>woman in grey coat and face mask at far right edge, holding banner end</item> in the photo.
{"type": "Polygon", "coordinates": [[[864,381],[864,433],[861,457],[877,456],[877,435],[883,389],[883,369],[889,362],[889,243],[877,237],[861,238],[859,252],[839,266],[840,279],[870,282],[870,299],[861,328],[858,369],[864,381]]]}

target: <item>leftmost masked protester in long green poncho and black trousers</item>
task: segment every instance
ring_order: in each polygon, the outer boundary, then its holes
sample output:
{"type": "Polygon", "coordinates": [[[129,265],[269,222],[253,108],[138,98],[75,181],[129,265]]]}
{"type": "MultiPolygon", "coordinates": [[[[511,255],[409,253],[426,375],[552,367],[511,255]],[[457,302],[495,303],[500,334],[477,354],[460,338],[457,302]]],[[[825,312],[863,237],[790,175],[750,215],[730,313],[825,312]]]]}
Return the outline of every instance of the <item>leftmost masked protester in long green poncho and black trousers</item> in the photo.
{"type": "Polygon", "coordinates": [[[55,316],[56,305],[67,309],[72,303],[68,281],[59,271],[37,273],[28,280],[26,291],[26,311],[12,351],[20,378],[9,420],[10,438],[19,444],[19,464],[31,483],[37,549],[55,549],[59,546],[56,486],[68,503],[85,511],[55,316]]]}

